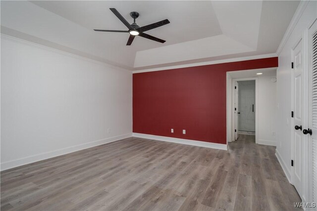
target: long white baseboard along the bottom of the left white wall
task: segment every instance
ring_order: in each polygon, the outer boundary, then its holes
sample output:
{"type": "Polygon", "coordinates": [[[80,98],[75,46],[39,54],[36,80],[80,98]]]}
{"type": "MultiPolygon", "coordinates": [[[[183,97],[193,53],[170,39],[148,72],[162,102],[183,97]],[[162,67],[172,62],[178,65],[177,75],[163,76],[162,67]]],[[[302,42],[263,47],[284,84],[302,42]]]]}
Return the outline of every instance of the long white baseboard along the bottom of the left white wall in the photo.
{"type": "Polygon", "coordinates": [[[117,135],[117,136],[113,136],[110,138],[105,138],[105,139],[92,141],[92,142],[88,142],[88,143],[84,143],[84,144],[79,144],[79,145],[75,145],[75,146],[71,146],[71,147],[66,147],[63,149],[45,152],[45,153],[41,153],[41,154],[37,154],[37,155],[25,157],[25,158],[20,158],[20,159],[13,160],[13,161],[4,162],[4,163],[1,163],[0,169],[1,169],[1,171],[6,170],[6,169],[12,169],[12,168],[23,166],[26,164],[31,164],[34,162],[43,161],[43,160],[53,158],[56,156],[65,155],[65,154],[68,154],[71,152],[76,152],[79,150],[83,150],[83,149],[99,146],[102,144],[110,143],[110,142],[117,141],[117,140],[120,140],[123,138],[131,137],[131,136],[132,136],[132,133],[117,135]]]}

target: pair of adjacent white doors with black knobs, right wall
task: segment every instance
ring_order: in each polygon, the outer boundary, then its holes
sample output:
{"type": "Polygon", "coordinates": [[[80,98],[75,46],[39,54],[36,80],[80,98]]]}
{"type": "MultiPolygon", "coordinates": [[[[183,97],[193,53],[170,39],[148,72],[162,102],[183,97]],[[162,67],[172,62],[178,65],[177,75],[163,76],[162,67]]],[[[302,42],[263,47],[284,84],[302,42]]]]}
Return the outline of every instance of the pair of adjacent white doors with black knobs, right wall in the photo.
{"type": "Polygon", "coordinates": [[[291,48],[291,178],[303,203],[317,202],[317,19],[291,48]]]}

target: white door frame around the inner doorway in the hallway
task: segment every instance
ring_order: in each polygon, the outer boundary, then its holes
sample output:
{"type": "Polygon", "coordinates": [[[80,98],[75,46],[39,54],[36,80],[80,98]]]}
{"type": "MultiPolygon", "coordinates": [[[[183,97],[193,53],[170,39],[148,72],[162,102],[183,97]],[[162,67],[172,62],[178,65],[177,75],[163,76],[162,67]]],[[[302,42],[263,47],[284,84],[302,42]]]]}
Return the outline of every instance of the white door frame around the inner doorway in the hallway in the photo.
{"type": "MultiPolygon", "coordinates": [[[[228,75],[228,74],[227,74],[228,75]]],[[[234,97],[235,97],[235,91],[234,91],[234,85],[235,82],[239,81],[255,81],[256,82],[256,143],[258,143],[258,137],[259,137],[259,121],[258,121],[258,111],[259,111],[259,89],[258,89],[258,77],[253,78],[243,78],[243,79],[232,79],[231,83],[230,80],[227,80],[227,142],[235,141],[234,137],[234,129],[235,129],[235,115],[234,115],[234,97]],[[230,91],[228,91],[230,89],[230,91]],[[230,103],[231,102],[231,103],[230,103]],[[229,121],[229,120],[232,121],[229,121]]]]}

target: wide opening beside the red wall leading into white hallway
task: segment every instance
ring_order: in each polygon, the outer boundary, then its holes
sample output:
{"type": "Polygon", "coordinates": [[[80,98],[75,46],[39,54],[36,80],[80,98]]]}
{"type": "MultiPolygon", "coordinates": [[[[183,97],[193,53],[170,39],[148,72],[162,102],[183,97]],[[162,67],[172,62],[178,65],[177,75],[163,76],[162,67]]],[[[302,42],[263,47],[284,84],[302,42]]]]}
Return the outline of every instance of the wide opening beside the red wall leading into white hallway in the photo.
{"type": "Polygon", "coordinates": [[[276,68],[227,72],[227,142],[235,141],[239,133],[251,133],[257,144],[276,146],[275,116],[276,68]],[[241,96],[244,82],[248,84],[246,86],[249,86],[249,89],[252,86],[255,88],[244,91],[249,92],[249,96],[244,97],[248,99],[240,99],[239,104],[239,89],[241,87],[241,96]],[[238,90],[235,86],[238,86],[238,90]],[[236,95],[238,97],[235,97],[236,95]]]}

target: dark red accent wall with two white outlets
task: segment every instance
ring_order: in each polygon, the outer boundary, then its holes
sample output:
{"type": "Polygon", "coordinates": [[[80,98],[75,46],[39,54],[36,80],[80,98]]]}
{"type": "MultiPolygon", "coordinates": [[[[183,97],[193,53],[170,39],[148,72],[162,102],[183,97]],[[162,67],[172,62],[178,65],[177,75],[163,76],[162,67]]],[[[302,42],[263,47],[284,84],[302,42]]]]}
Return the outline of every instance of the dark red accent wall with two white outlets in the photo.
{"type": "Polygon", "coordinates": [[[226,72],[277,66],[272,57],[133,74],[133,132],[226,144],[226,72]]]}

